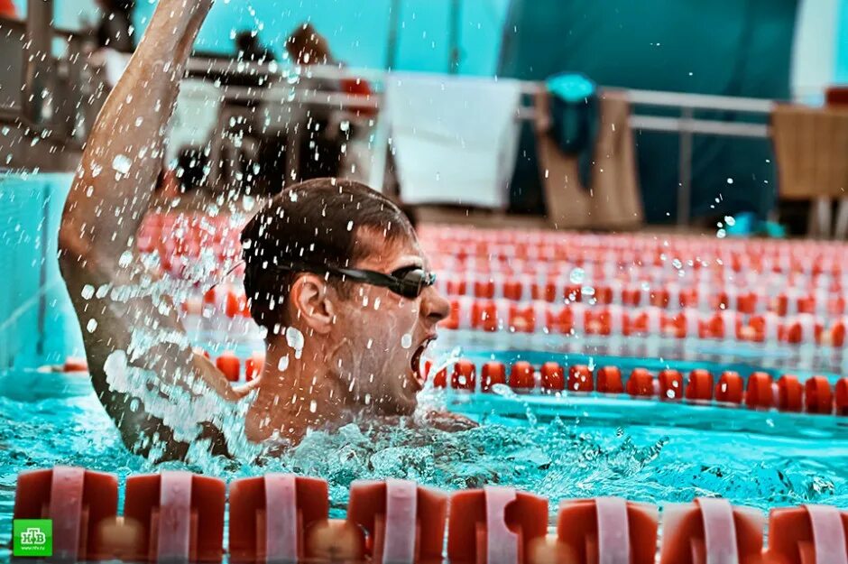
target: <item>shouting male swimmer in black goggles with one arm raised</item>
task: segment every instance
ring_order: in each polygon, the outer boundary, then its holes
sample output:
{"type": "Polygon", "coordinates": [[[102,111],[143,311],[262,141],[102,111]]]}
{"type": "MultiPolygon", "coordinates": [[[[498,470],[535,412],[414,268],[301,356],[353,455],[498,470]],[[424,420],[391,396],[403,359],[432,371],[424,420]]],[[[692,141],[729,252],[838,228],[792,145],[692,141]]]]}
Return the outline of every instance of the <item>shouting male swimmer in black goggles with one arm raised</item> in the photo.
{"type": "MultiPolygon", "coordinates": [[[[134,236],[152,206],[166,125],[211,5],[160,0],[89,136],[60,226],[60,268],[97,395],[128,448],[148,455],[166,445],[161,458],[185,458],[189,445],[175,439],[153,402],[174,387],[202,396],[198,382],[224,402],[246,392],[193,352],[167,296],[115,291],[152,287],[134,236]],[[154,347],[138,347],[139,328],[157,336],[154,347]],[[108,366],[118,357],[155,374],[155,385],[116,389],[108,366]]],[[[296,444],[308,430],[353,415],[410,415],[422,386],[420,357],[449,306],[401,210],[362,184],[310,180],[267,202],[241,237],[251,313],[267,329],[244,436],[296,444]]],[[[220,429],[199,427],[213,452],[228,452],[220,429]]]]}

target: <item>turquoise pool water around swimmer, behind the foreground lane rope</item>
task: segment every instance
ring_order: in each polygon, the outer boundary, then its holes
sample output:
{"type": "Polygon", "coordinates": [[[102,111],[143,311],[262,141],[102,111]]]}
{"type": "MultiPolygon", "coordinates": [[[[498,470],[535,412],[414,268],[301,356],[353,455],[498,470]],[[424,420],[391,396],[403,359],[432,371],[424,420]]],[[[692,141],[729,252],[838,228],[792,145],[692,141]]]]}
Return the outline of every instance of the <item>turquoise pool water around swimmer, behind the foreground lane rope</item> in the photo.
{"type": "Polygon", "coordinates": [[[422,393],[423,404],[482,423],[472,430],[447,432],[413,420],[350,424],[314,432],[279,458],[154,465],[124,448],[85,374],[6,372],[0,374],[0,544],[9,541],[18,472],[58,464],[112,472],[122,484],[130,474],[162,468],[227,481],[272,471],[319,476],[330,485],[334,516],[344,514],[353,480],[386,477],[446,490],[512,485],[548,496],[552,511],[558,499],[596,495],[655,504],[721,495],[762,510],[848,505],[848,429],[833,423],[840,418],[501,392],[422,393]],[[674,415],[681,409],[687,411],[674,415]],[[740,416],[747,422],[734,426],[740,416]]]}

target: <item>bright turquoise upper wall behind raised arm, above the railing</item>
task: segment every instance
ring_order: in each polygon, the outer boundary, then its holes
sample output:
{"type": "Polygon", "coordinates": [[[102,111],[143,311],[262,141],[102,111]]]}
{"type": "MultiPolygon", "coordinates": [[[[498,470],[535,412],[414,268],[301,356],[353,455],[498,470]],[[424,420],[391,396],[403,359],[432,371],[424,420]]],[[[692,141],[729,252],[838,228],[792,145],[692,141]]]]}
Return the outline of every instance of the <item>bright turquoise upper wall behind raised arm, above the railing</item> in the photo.
{"type": "MultiPolygon", "coordinates": [[[[66,0],[67,1],[67,0],[66,0]]],[[[449,59],[452,0],[401,0],[396,68],[445,72],[449,59]]],[[[300,23],[324,33],[336,57],[355,67],[383,68],[388,60],[392,0],[218,2],[198,38],[198,48],[232,53],[235,32],[260,29],[262,42],[282,57],[286,37],[300,23]]],[[[460,47],[463,74],[491,75],[496,67],[509,0],[463,0],[460,47]]],[[[154,6],[140,2],[136,23],[147,23],[154,6]]]]}

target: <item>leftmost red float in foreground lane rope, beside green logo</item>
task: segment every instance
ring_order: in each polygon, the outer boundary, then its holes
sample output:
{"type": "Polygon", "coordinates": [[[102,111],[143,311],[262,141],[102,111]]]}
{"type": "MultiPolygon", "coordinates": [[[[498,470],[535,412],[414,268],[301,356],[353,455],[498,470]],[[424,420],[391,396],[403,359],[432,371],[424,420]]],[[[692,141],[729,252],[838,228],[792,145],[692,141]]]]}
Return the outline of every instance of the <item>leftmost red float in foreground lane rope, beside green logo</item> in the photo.
{"type": "Polygon", "coordinates": [[[116,476],[76,467],[54,467],[18,475],[13,519],[51,519],[53,558],[88,560],[103,554],[98,525],[114,520],[116,476]]]}

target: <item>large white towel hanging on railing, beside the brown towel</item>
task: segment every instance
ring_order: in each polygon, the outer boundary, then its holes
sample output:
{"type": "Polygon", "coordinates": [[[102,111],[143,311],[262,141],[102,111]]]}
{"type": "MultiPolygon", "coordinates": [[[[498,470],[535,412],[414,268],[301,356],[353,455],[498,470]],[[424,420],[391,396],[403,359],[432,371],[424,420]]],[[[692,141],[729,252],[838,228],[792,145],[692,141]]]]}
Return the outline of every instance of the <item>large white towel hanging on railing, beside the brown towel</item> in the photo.
{"type": "Polygon", "coordinates": [[[386,116],[401,199],[505,208],[520,101],[515,80],[392,75],[386,116]]]}

